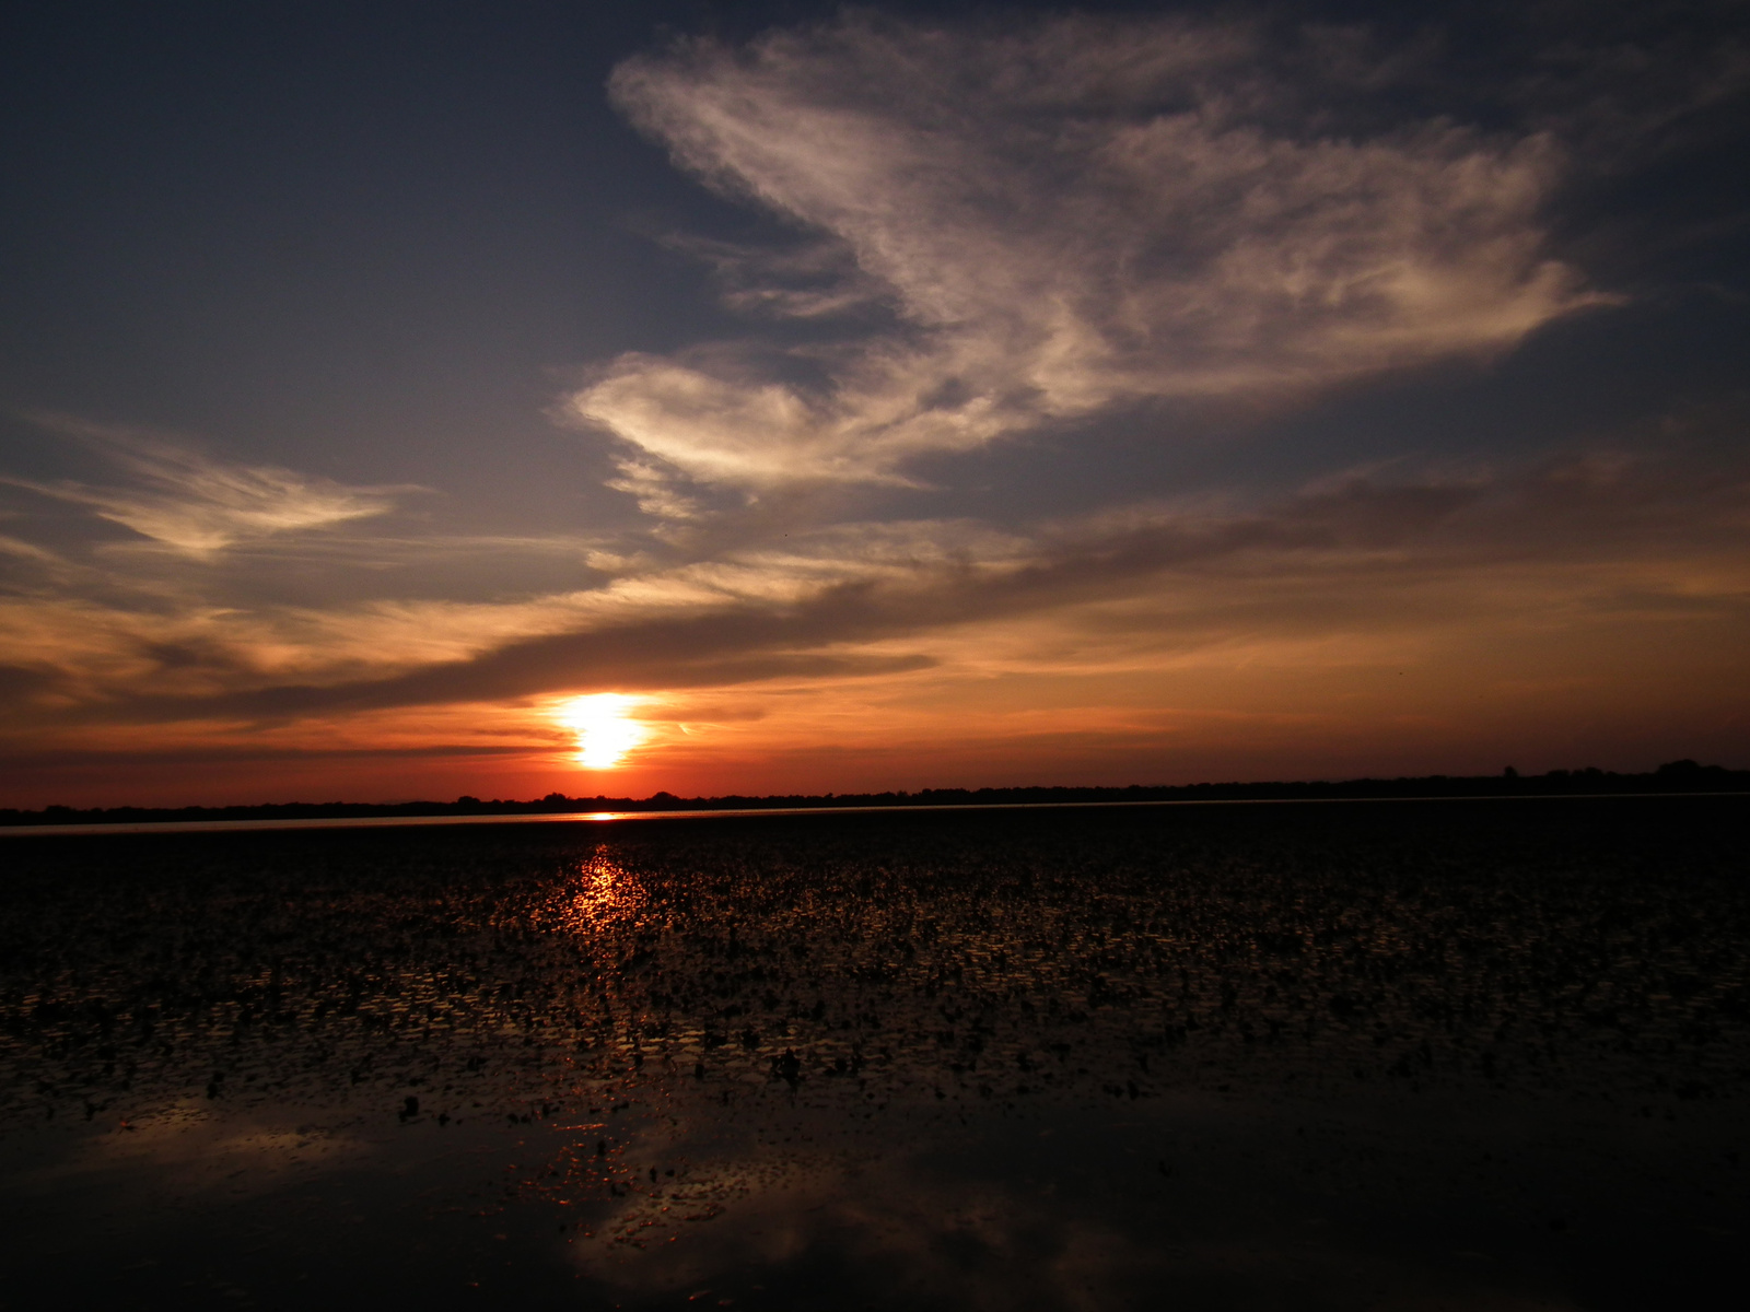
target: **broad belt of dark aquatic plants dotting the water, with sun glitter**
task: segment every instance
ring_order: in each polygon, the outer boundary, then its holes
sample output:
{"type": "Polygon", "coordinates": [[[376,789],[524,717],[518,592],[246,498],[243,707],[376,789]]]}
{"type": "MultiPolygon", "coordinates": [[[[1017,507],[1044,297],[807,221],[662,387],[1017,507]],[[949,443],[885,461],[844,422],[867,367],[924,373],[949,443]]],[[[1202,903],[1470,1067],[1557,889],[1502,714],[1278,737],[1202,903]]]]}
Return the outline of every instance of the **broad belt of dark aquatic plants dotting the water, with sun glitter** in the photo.
{"type": "Polygon", "coordinates": [[[37,840],[9,848],[0,1116],[1738,1095],[1722,806],[1676,841],[1580,803],[37,840]]]}

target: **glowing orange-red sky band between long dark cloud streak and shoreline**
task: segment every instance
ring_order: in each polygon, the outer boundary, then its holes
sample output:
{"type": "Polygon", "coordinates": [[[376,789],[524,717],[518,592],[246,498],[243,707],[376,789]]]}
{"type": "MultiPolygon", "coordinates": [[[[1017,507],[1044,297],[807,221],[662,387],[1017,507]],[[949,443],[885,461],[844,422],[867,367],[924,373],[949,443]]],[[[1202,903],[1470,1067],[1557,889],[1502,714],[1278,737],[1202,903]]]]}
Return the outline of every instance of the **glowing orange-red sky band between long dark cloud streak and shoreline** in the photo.
{"type": "MultiPolygon", "coordinates": [[[[1083,616],[1085,619],[1085,616],[1083,616]]],[[[584,768],[565,698],[357,712],[278,726],[91,726],[12,740],[37,806],[852,792],[1004,784],[1493,773],[1734,759],[1750,625],[1494,625],[1297,637],[1185,653],[1088,649],[1066,619],[975,625],[938,663],[628,700],[639,742],[584,768]],[[32,750],[35,749],[35,750],[32,750]]]]}

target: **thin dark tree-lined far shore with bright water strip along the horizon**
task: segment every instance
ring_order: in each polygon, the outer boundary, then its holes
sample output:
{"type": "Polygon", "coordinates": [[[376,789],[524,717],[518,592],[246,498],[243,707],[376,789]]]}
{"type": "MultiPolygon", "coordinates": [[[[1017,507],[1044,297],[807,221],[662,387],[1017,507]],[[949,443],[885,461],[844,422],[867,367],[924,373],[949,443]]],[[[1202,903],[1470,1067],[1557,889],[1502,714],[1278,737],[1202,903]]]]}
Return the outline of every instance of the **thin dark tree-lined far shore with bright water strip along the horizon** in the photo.
{"type": "Polygon", "coordinates": [[[1463,798],[1563,798],[1563,796],[1657,796],[1699,792],[1750,792],[1750,770],[1704,766],[1671,761],[1640,775],[1608,770],[1552,770],[1545,775],[1423,775],[1416,778],[1351,778],[1340,782],[1256,782],[1256,784],[1169,784],[1127,787],[984,787],[922,789],[919,792],[826,792],[819,796],[724,796],[677,798],[656,792],[649,798],[567,798],[550,792],[534,801],[508,801],[462,796],[455,801],[287,801],[254,806],[44,806],[42,810],[0,808],[0,829],[130,829],[159,826],[248,824],[250,827],[304,826],[332,822],[399,820],[486,820],[486,819],[560,819],[560,817],[634,817],[718,812],[814,812],[814,810],[920,810],[931,806],[1048,806],[1169,801],[1388,801],[1388,799],[1463,799],[1463,798]]]}

